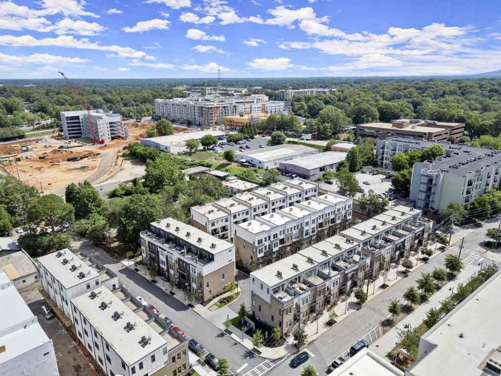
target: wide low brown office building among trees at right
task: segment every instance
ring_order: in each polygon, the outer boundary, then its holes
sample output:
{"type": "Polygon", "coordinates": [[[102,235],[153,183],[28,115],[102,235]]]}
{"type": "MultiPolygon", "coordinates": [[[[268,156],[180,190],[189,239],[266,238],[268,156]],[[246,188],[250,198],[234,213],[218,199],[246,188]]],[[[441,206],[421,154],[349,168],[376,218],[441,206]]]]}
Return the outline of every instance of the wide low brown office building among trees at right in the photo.
{"type": "Polygon", "coordinates": [[[357,136],[385,139],[389,137],[416,137],[428,141],[457,142],[463,135],[464,124],[433,120],[399,119],[391,123],[366,123],[357,125],[357,136]]]}

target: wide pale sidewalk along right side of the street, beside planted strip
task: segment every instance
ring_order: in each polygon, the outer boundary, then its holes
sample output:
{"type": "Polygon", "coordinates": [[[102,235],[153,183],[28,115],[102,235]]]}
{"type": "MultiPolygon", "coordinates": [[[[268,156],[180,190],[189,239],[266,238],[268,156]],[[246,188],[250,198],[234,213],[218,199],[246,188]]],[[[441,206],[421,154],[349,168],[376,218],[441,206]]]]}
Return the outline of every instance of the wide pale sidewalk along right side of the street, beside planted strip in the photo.
{"type": "MultiPolygon", "coordinates": [[[[445,284],[440,290],[430,296],[428,301],[419,305],[414,311],[409,313],[397,325],[391,328],[385,335],[377,339],[372,345],[372,351],[381,357],[385,357],[393,347],[398,344],[398,331],[404,329],[404,326],[410,324],[415,328],[419,326],[426,318],[426,312],[432,307],[439,307],[440,301],[444,300],[452,293],[451,288],[457,286],[458,283],[464,283],[470,276],[478,271],[477,265],[465,265],[465,268],[459,273],[456,278],[445,284]]],[[[404,303],[404,302],[402,302],[404,303]]]]}

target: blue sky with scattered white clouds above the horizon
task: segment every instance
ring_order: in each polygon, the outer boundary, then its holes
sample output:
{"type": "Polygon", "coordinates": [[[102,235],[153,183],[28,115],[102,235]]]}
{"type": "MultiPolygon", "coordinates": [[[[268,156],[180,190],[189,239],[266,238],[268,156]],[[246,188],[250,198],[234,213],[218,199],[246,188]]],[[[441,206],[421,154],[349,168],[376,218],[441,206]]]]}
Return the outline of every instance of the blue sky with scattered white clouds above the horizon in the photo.
{"type": "Polygon", "coordinates": [[[498,0],[0,0],[0,78],[501,69],[498,0]]]}

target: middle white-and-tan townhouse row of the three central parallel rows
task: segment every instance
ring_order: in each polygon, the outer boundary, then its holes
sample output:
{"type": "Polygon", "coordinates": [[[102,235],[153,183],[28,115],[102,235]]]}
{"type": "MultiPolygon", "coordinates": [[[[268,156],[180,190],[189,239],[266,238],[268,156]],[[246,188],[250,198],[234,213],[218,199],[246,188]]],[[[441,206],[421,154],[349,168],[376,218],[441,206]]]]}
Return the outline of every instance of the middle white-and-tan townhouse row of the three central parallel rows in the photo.
{"type": "Polygon", "coordinates": [[[322,195],[234,226],[236,254],[254,270],[336,234],[351,221],[352,199],[322,195]]]}

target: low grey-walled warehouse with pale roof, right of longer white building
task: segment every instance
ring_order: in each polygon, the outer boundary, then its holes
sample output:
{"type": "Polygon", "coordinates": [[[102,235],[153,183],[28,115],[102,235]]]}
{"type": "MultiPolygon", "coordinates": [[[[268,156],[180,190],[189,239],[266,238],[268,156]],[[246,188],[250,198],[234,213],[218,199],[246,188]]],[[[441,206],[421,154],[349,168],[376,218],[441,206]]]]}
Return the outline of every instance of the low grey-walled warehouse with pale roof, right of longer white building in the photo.
{"type": "Polygon", "coordinates": [[[346,158],[345,152],[326,151],[302,158],[280,162],[283,173],[293,173],[305,179],[315,178],[328,170],[336,170],[338,163],[346,158]]]}

